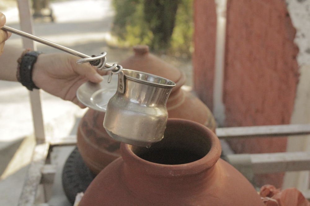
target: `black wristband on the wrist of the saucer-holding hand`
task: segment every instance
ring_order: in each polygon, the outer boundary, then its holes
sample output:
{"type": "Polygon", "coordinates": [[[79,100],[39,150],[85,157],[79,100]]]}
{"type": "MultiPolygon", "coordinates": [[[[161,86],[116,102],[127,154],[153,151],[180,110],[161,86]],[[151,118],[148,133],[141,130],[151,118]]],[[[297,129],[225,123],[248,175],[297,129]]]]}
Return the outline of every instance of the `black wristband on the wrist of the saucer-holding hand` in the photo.
{"type": "Polygon", "coordinates": [[[17,68],[17,80],[27,89],[39,89],[32,81],[33,65],[37,61],[39,54],[42,52],[31,51],[27,49],[22,56],[17,60],[19,66],[17,68]]]}

